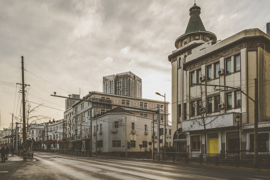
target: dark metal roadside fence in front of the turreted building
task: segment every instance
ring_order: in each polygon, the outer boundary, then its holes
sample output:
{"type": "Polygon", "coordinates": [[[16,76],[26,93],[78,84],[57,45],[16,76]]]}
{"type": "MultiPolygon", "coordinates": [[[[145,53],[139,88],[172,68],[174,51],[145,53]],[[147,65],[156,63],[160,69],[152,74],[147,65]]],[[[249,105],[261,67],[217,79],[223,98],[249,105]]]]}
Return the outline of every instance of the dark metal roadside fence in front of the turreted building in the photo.
{"type": "Polygon", "coordinates": [[[270,155],[267,154],[153,152],[153,160],[270,169],[270,155]]]}

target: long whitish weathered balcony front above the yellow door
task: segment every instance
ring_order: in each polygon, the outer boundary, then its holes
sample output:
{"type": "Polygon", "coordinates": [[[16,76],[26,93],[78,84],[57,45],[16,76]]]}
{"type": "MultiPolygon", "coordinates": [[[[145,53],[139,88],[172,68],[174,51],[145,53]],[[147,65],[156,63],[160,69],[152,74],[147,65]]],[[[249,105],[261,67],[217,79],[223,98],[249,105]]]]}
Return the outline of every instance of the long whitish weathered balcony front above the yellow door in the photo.
{"type": "MultiPolygon", "coordinates": [[[[237,114],[239,113],[231,112],[231,113],[226,113],[226,114],[218,114],[218,115],[204,117],[205,123],[206,123],[205,127],[206,129],[213,129],[213,128],[237,126],[237,123],[234,121],[235,116],[237,114]]],[[[192,118],[188,120],[183,120],[182,125],[183,125],[183,131],[204,129],[201,118],[192,118]]]]}

